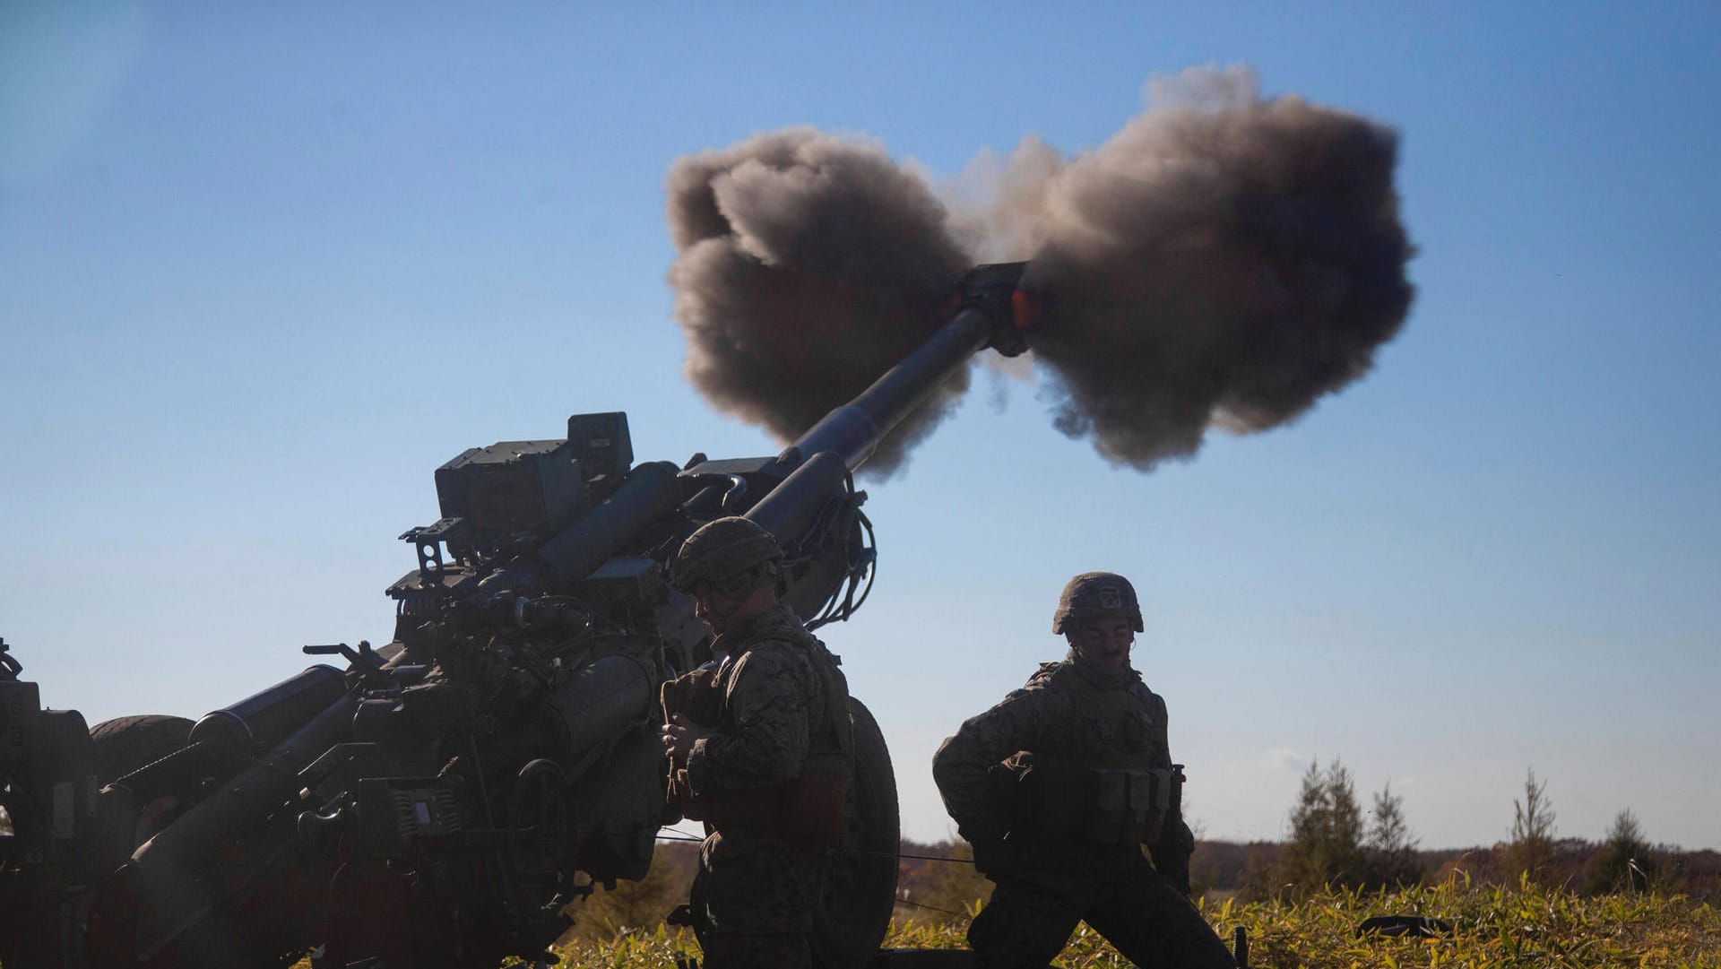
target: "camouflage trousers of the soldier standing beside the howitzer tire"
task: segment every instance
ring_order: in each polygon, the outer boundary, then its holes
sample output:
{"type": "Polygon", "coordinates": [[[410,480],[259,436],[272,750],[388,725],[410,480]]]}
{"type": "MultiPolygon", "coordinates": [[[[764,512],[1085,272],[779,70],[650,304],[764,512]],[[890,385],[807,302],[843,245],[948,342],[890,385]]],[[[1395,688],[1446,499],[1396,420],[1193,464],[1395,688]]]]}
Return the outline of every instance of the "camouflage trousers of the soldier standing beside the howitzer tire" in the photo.
{"type": "Polygon", "coordinates": [[[814,852],[768,830],[726,828],[699,850],[692,909],[707,969],[812,964],[814,852]]]}

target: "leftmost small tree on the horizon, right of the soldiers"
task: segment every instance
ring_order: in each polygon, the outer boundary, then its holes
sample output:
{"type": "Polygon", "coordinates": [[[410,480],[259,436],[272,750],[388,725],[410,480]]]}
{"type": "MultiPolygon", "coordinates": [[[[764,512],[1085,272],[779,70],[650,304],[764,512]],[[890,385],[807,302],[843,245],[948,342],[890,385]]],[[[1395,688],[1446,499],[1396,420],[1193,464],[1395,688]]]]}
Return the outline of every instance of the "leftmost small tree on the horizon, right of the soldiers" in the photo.
{"type": "Polygon", "coordinates": [[[1363,881],[1363,811],[1356,783],[1337,759],[1325,771],[1310,762],[1296,807],[1291,840],[1279,859],[1279,880],[1298,893],[1327,885],[1363,881]]]}

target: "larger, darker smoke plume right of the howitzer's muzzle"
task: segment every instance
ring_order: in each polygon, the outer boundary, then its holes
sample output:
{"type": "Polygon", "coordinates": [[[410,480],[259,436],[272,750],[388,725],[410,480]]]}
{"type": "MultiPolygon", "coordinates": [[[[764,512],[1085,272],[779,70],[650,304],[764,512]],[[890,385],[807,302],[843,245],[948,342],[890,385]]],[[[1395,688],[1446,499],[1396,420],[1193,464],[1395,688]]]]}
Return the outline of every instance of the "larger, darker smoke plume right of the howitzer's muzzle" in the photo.
{"type": "MultiPolygon", "coordinates": [[[[1093,153],[1024,179],[1000,224],[1036,243],[1029,334],[1060,430],[1150,468],[1208,423],[1265,430],[1368,372],[1409,310],[1394,134],[1253,74],[1194,71],[1093,153]]],[[[1026,145],[1014,169],[1046,170],[1026,145]]],[[[996,219],[996,217],[995,217],[996,219]]]]}

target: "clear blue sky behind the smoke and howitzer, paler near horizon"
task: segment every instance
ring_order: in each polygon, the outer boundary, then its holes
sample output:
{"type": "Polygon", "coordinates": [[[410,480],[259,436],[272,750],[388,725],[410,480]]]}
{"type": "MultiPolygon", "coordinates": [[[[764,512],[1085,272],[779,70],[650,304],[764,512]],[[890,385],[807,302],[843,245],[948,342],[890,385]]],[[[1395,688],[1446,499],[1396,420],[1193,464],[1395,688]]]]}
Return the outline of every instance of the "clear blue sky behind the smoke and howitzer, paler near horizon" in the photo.
{"type": "Polygon", "coordinates": [[[1341,757],[1425,847],[1508,836],[1528,768],[1559,835],[1721,847],[1718,38],[1712,3],[0,3],[0,635],[91,723],[382,642],[465,447],[626,410],[642,460],[776,451],[680,375],[678,155],[812,124],[948,177],[1248,64],[1399,129],[1409,322],[1150,475],[981,375],[869,487],[878,589],[826,639],[905,833],[950,833],[931,752],[1108,568],[1208,836],[1282,836],[1341,757]]]}

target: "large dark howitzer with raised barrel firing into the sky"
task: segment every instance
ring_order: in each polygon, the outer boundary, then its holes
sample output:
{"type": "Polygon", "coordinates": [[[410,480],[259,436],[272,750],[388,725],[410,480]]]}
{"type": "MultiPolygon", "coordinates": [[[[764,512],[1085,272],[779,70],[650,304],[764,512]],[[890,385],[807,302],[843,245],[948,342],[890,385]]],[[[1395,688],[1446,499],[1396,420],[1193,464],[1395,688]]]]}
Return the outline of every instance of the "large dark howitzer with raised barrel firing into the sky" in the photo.
{"type": "MultiPolygon", "coordinates": [[[[659,685],[711,661],[664,570],[700,523],[783,546],[809,626],[866,601],[876,552],[854,489],[919,401],[986,346],[1014,355],[1022,265],[972,270],[912,355],[771,458],[632,463],[626,417],[437,470],[441,520],[403,535],[394,640],[194,725],[86,730],[41,709],[0,642],[0,966],[465,969],[535,959],[595,883],[647,871],[664,805],[659,685]],[[582,878],[583,876],[583,878],[582,878]]],[[[883,737],[852,704],[847,830],[826,852],[814,950],[876,950],[895,897],[883,737]]]]}

